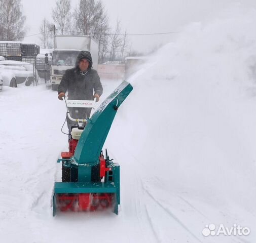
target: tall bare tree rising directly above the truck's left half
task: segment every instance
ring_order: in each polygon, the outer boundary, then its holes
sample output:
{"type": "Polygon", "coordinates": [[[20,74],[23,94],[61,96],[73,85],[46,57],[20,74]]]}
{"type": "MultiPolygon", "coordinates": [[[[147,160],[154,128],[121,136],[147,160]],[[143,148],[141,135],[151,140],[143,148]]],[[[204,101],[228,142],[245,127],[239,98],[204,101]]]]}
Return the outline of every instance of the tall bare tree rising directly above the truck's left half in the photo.
{"type": "Polygon", "coordinates": [[[60,34],[66,34],[71,23],[70,0],[57,0],[55,8],[52,10],[52,18],[60,34]]]}

